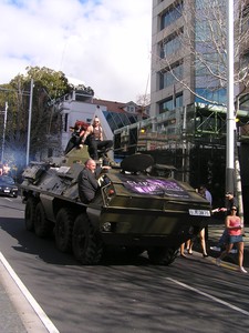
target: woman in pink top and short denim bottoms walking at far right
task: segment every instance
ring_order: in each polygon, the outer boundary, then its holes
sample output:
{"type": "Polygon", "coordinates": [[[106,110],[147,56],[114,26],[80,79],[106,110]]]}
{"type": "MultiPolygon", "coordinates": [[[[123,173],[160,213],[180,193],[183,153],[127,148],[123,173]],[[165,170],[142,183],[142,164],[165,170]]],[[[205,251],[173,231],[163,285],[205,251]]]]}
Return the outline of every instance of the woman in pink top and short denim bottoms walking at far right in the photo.
{"type": "Polygon", "coordinates": [[[231,251],[234,244],[238,248],[238,264],[239,264],[239,271],[241,273],[247,273],[247,271],[243,268],[243,239],[242,239],[242,223],[241,219],[237,215],[237,206],[231,206],[230,214],[226,218],[226,230],[228,233],[228,240],[226,250],[221,252],[220,256],[217,258],[216,263],[219,266],[221,260],[229,254],[231,251]]]}

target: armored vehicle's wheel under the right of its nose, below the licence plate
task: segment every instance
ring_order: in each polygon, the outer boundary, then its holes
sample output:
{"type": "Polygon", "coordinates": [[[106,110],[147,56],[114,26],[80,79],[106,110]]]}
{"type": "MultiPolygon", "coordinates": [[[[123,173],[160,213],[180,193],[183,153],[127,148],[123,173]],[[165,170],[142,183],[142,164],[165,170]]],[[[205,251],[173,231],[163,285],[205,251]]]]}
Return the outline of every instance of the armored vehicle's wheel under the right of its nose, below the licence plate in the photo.
{"type": "Polygon", "coordinates": [[[169,265],[177,256],[178,250],[173,248],[154,246],[148,249],[148,259],[157,265],[169,265]]]}

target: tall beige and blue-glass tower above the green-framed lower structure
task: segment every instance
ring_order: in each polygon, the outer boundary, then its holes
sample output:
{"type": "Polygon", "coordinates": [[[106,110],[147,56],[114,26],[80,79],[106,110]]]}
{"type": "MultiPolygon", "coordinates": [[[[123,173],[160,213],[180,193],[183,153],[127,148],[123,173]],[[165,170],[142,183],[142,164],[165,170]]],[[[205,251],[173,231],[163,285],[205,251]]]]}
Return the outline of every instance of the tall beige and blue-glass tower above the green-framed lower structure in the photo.
{"type": "MultiPolygon", "coordinates": [[[[248,84],[248,1],[235,2],[235,88],[248,84]]],[[[226,0],[153,0],[151,114],[226,105],[226,0]]]]}

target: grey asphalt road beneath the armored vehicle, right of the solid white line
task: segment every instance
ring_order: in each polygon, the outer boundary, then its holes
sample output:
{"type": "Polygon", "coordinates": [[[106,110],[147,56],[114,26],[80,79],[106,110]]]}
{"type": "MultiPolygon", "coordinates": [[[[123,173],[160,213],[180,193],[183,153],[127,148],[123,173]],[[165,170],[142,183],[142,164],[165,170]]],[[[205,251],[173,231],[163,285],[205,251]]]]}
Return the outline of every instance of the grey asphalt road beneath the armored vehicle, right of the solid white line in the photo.
{"type": "Polygon", "coordinates": [[[116,251],[82,266],[23,214],[20,198],[0,198],[0,251],[61,333],[248,332],[249,274],[197,253],[156,266],[116,251]]]}

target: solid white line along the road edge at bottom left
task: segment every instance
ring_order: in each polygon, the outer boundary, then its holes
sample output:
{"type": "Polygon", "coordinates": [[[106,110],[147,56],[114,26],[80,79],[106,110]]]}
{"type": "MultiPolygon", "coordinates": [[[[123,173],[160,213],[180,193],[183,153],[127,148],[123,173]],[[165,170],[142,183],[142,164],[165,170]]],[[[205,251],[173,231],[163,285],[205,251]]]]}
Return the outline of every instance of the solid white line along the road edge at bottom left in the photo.
{"type": "Polygon", "coordinates": [[[48,332],[50,332],[50,333],[60,333],[59,330],[52,323],[52,321],[48,317],[45,312],[42,310],[42,307],[38,304],[38,302],[31,295],[31,293],[25,287],[25,285],[22,283],[22,281],[17,275],[14,270],[11,268],[9,262],[6,260],[2,252],[0,252],[0,261],[3,264],[3,266],[6,268],[6,270],[8,271],[8,273],[10,274],[10,276],[12,278],[12,280],[14,281],[14,283],[17,284],[17,286],[19,287],[19,290],[21,291],[21,293],[24,295],[24,297],[27,299],[27,301],[29,302],[31,307],[34,310],[34,312],[37,313],[37,315],[39,316],[39,319],[41,320],[43,325],[46,327],[48,332]]]}

